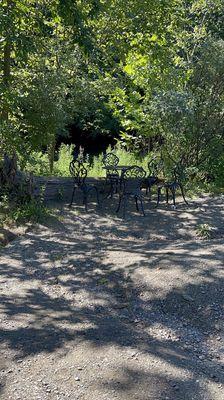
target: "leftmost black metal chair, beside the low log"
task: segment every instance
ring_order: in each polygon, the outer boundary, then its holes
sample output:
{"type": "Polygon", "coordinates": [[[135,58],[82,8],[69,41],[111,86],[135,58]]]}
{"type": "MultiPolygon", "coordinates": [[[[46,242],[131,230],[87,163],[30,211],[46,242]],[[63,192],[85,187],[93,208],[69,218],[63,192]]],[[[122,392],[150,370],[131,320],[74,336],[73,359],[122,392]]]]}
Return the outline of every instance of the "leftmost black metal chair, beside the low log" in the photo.
{"type": "Polygon", "coordinates": [[[99,205],[98,189],[95,185],[89,185],[86,183],[87,169],[85,168],[83,163],[73,160],[70,163],[69,170],[70,174],[74,177],[74,188],[69,206],[72,206],[76,189],[80,189],[83,193],[83,204],[85,205],[86,211],[88,210],[88,196],[91,191],[95,191],[97,203],[99,205]]]}

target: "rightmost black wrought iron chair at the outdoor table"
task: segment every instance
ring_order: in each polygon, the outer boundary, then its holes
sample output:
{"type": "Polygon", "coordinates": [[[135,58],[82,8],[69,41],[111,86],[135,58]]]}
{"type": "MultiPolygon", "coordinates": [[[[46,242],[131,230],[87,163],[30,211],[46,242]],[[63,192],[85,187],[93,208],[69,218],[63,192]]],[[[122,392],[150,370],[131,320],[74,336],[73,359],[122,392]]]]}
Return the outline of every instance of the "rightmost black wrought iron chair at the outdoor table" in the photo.
{"type": "Polygon", "coordinates": [[[157,185],[158,192],[157,192],[157,205],[159,205],[160,198],[161,198],[161,191],[164,188],[166,191],[166,202],[169,203],[169,192],[172,195],[173,199],[173,206],[176,207],[176,191],[180,189],[183,200],[186,204],[188,204],[185,193],[184,193],[184,186],[183,181],[185,180],[185,173],[184,168],[180,165],[176,165],[172,170],[172,178],[171,180],[159,182],[157,185]]]}

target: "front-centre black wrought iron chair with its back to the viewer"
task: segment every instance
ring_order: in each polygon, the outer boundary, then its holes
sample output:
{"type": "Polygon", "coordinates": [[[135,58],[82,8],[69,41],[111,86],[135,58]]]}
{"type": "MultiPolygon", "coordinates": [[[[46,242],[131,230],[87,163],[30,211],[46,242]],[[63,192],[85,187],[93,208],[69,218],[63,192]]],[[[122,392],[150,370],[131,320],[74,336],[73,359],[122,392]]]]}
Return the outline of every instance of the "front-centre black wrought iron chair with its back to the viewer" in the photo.
{"type": "Polygon", "coordinates": [[[116,210],[118,213],[120,211],[121,204],[123,203],[123,218],[125,218],[126,215],[126,207],[129,197],[135,199],[137,211],[139,211],[138,201],[140,202],[142,214],[145,216],[143,196],[141,192],[142,181],[145,178],[145,175],[145,170],[138,166],[130,167],[124,172],[119,193],[119,203],[116,210]]]}

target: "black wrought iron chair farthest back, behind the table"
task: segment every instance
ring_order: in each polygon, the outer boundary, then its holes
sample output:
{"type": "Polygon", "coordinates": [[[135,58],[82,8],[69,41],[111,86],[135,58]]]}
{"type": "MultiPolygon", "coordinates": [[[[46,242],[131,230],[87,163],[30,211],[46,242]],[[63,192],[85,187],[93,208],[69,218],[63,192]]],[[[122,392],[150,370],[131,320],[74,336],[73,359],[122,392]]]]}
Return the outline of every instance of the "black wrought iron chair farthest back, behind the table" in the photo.
{"type": "Polygon", "coordinates": [[[116,166],[119,163],[119,158],[114,153],[107,153],[103,158],[103,164],[107,167],[106,170],[106,182],[110,184],[110,190],[107,193],[106,197],[113,197],[114,193],[118,192],[120,176],[118,171],[116,170],[116,166]]]}

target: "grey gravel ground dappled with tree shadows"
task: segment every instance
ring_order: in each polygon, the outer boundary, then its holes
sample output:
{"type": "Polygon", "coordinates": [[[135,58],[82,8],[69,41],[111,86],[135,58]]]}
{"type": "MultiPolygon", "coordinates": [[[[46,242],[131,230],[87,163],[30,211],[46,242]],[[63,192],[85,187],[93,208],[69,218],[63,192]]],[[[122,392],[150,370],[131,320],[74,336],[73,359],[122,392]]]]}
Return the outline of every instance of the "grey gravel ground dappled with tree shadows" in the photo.
{"type": "Polygon", "coordinates": [[[223,399],[223,198],[112,208],[64,206],[1,251],[1,400],[223,399]]]}

